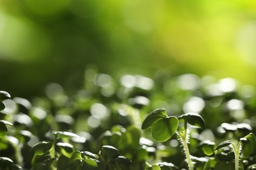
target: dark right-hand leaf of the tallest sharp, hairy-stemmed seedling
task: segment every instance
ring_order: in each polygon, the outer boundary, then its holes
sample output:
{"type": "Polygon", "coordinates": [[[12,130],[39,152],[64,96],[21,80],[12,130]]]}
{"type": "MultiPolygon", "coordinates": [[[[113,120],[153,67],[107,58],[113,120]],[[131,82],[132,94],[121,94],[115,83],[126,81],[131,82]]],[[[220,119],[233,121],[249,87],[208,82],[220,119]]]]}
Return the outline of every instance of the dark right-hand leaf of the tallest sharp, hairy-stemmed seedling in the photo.
{"type": "Polygon", "coordinates": [[[205,122],[204,122],[202,116],[200,116],[200,114],[198,114],[198,113],[182,114],[179,117],[179,120],[181,120],[181,119],[183,119],[185,122],[187,122],[188,124],[190,124],[192,126],[201,127],[201,128],[205,127],[205,122]]]}

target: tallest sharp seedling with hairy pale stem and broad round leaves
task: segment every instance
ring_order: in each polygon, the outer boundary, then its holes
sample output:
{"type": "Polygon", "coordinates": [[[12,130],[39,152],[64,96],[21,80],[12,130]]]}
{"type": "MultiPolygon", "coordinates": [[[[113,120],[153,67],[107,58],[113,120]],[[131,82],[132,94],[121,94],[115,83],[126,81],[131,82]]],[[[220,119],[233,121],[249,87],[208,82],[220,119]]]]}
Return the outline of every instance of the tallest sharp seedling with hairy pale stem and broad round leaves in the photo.
{"type": "Polygon", "coordinates": [[[168,116],[165,109],[160,108],[153,110],[148,114],[144,122],[142,122],[142,129],[148,127],[152,128],[152,137],[159,143],[165,142],[170,139],[175,132],[177,132],[186,154],[188,167],[190,170],[194,168],[192,160],[190,158],[190,152],[188,149],[187,140],[188,136],[188,124],[196,127],[204,127],[205,122],[203,118],[196,113],[187,113],[179,117],[168,116]]]}

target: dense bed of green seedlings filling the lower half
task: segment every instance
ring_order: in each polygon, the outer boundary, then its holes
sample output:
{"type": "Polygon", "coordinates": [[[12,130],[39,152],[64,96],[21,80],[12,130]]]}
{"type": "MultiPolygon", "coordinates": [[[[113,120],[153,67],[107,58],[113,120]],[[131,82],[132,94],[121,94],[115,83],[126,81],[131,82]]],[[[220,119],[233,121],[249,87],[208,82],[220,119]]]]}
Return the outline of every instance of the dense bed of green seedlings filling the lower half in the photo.
{"type": "Polygon", "coordinates": [[[256,88],[232,78],[88,69],[45,93],[0,91],[0,169],[256,169],[256,88]]]}

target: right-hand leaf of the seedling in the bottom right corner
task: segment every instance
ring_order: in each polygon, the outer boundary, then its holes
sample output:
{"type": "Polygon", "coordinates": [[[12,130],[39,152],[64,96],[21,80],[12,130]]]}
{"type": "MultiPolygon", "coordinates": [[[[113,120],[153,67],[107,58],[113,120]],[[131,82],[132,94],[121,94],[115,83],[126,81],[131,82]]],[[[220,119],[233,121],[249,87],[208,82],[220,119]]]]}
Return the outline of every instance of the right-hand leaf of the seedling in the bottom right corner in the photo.
{"type": "Polygon", "coordinates": [[[242,154],[245,157],[250,156],[251,152],[255,150],[255,135],[249,133],[249,135],[241,138],[240,141],[242,142],[242,154]]]}

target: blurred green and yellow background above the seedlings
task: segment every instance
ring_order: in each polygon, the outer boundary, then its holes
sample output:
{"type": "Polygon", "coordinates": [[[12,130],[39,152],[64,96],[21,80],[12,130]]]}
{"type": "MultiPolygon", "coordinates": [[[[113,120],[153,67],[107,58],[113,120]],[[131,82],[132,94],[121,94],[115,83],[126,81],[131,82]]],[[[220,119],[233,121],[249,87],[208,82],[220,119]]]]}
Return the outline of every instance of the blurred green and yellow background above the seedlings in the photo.
{"type": "Polygon", "coordinates": [[[256,1],[0,0],[0,89],[78,88],[85,68],[256,85],[256,1]]]}

